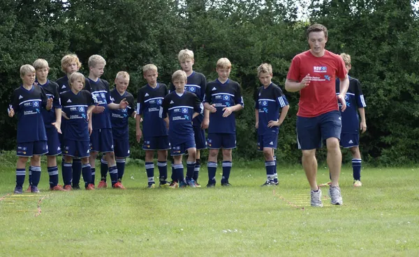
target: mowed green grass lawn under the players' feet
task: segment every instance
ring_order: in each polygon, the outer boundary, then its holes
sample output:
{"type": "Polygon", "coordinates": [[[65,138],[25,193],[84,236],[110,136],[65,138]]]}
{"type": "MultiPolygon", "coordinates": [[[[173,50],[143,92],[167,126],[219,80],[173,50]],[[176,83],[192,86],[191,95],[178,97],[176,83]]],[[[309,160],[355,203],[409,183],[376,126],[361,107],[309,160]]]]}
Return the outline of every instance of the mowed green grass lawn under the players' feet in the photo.
{"type": "MultiPolygon", "coordinates": [[[[418,171],[365,168],[353,188],[346,167],[344,205],[323,188],[324,207],[311,208],[300,166],[279,166],[280,185],[260,187],[263,162],[235,165],[233,187],[212,189],[206,167],[199,189],[146,189],[144,167],[128,166],[126,190],[88,192],[49,192],[43,167],[41,194],[21,196],[3,166],[0,256],[419,256],[418,171]]],[[[328,181],[325,167],[318,178],[328,181]]]]}

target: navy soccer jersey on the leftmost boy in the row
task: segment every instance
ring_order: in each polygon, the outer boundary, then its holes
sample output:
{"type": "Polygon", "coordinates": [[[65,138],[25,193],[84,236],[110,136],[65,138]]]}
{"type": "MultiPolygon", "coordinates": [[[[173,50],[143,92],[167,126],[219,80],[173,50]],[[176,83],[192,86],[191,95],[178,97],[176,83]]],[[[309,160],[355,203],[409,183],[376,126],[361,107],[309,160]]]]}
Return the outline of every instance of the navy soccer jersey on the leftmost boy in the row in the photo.
{"type": "Polygon", "coordinates": [[[47,104],[47,95],[41,86],[34,84],[31,90],[23,86],[12,95],[12,107],[17,115],[17,143],[46,141],[45,125],[41,109],[47,104]]]}

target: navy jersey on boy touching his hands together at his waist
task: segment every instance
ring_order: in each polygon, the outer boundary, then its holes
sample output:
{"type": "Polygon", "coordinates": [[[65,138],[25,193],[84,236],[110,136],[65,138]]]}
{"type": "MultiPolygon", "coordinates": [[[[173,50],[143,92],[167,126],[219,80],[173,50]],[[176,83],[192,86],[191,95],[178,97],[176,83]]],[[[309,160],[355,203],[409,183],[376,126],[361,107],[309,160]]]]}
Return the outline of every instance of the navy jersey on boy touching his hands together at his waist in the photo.
{"type": "Polygon", "coordinates": [[[204,102],[214,104],[215,113],[210,113],[208,133],[235,134],[235,113],[223,117],[223,108],[241,104],[244,107],[242,89],[236,81],[228,79],[222,84],[218,79],[207,84],[204,102]]]}

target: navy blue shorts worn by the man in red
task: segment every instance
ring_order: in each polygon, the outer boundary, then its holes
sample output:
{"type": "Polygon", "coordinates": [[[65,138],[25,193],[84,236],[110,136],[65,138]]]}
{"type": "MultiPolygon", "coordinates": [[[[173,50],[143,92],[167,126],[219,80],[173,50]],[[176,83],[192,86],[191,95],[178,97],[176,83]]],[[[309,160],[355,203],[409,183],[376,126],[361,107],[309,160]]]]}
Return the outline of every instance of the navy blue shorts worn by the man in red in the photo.
{"type": "Polygon", "coordinates": [[[329,111],[316,117],[297,116],[297,143],[301,150],[321,148],[322,142],[331,137],[340,140],[341,115],[339,111],[329,111]]]}

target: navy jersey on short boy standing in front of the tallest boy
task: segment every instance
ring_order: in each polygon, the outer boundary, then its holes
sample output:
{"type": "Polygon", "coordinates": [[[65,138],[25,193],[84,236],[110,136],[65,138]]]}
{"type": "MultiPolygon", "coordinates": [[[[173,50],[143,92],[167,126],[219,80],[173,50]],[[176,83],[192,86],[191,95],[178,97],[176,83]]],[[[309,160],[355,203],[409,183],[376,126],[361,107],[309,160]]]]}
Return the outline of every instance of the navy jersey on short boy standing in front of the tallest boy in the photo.
{"type": "Polygon", "coordinates": [[[179,96],[176,91],[166,95],[163,100],[163,114],[169,117],[169,137],[182,139],[193,134],[192,116],[200,114],[201,102],[199,98],[189,91],[179,96]]]}

